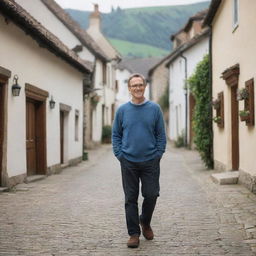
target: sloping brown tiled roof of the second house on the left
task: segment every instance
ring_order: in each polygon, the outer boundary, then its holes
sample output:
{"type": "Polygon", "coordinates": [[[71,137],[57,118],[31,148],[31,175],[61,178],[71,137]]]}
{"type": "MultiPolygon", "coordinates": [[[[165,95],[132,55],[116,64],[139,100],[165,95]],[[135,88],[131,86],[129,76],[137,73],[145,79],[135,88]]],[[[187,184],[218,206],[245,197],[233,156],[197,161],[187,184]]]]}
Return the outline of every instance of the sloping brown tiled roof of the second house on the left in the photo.
{"type": "Polygon", "coordinates": [[[41,1],[98,58],[105,61],[108,59],[92,37],[85,30],[83,30],[80,25],[74,21],[70,15],[66,13],[54,0],[41,1]]]}

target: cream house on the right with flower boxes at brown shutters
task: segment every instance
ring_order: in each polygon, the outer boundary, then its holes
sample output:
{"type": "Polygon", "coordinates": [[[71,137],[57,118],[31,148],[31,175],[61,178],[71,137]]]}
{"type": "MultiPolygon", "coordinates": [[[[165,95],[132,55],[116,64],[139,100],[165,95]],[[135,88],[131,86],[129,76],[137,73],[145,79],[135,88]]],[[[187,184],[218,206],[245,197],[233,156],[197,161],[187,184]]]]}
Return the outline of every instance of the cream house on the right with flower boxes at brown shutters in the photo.
{"type": "Polygon", "coordinates": [[[212,28],[212,97],[218,103],[213,108],[215,169],[239,171],[238,181],[254,193],[255,10],[255,1],[212,0],[204,21],[212,28]]]}

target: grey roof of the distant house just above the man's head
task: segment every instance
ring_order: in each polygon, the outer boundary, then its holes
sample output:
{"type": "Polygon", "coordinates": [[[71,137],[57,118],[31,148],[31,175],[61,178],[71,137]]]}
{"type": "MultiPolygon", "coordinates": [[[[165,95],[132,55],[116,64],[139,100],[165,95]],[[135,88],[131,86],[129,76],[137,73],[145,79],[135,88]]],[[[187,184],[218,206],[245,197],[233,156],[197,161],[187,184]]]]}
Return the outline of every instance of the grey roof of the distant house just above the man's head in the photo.
{"type": "Polygon", "coordinates": [[[148,77],[148,71],[160,61],[159,57],[151,58],[124,58],[118,63],[117,68],[120,70],[127,69],[131,73],[140,73],[148,77]]]}

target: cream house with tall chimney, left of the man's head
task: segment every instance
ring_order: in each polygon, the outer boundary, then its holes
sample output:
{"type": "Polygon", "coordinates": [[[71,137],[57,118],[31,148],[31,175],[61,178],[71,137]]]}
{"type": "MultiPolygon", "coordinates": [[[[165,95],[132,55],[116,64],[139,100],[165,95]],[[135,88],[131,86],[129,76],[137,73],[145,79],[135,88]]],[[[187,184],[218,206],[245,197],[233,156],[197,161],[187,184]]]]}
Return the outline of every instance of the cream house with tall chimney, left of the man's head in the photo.
{"type": "Polygon", "coordinates": [[[102,65],[102,69],[96,72],[94,83],[99,85],[95,89],[95,110],[93,115],[92,138],[95,142],[101,141],[102,127],[111,125],[115,114],[115,98],[117,91],[116,84],[116,64],[121,60],[121,55],[110,44],[101,32],[101,15],[99,6],[94,5],[94,11],[89,17],[89,27],[87,33],[100,46],[104,54],[110,60],[102,65]]]}

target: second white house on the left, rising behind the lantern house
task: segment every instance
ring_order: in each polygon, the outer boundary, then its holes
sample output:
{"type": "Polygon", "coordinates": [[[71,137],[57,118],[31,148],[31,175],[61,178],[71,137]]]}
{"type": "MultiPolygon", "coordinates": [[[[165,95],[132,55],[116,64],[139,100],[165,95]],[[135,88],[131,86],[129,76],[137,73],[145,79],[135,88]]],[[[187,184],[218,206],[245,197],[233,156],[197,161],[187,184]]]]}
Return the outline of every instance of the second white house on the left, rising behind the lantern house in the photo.
{"type": "Polygon", "coordinates": [[[47,29],[58,36],[76,54],[93,62],[91,77],[84,79],[84,148],[91,148],[101,142],[103,80],[111,59],[103,52],[94,39],[74,21],[54,0],[17,0],[31,15],[36,17],[47,29]],[[102,101],[102,100],[101,100],[102,101]]]}

